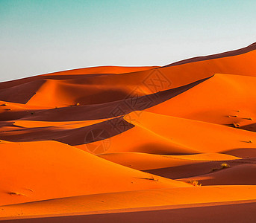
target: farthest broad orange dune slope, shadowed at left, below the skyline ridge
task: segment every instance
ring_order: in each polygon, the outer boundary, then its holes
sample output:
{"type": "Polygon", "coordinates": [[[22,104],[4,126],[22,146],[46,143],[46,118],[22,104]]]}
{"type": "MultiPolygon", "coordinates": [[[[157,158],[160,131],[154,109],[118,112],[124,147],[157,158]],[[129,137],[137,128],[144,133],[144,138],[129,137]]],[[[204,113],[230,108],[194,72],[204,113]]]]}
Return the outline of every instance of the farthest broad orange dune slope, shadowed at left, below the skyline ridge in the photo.
{"type": "Polygon", "coordinates": [[[1,83],[0,88],[2,89],[0,90],[0,99],[5,98],[13,100],[13,97],[10,97],[11,93],[13,95],[18,91],[22,91],[22,98],[18,98],[21,96],[16,95],[15,101],[13,102],[19,100],[20,103],[26,103],[32,97],[30,103],[36,105],[38,104],[37,100],[41,100],[42,103],[44,102],[44,104],[47,104],[46,99],[50,101],[52,99],[49,93],[54,94],[54,92],[57,91],[57,96],[60,99],[53,100],[51,103],[51,106],[57,106],[58,104],[68,105],[69,103],[79,103],[79,101],[74,100],[81,99],[81,97],[83,97],[84,103],[90,103],[92,98],[98,101],[99,94],[105,94],[106,100],[111,97],[118,97],[120,99],[120,97],[125,97],[127,93],[136,91],[136,88],[140,88],[140,91],[138,92],[143,92],[144,95],[154,94],[157,91],[177,88],[197,80],[211,77],[213,74],[236,74],[255,77],[255,56],[256,51],[254,50],[238,56],[222,57],[219,59],[210,59],[171,67],[154,68],[120,75],[101,74],[98,76],[88,76],[85,74],[84,76],[82,75],[82,79],[81,75],[78,75],[79,77],[75,77],[75,79],[56,80],[49,76],[47,77],[47,80],[37,80],[38,78],[42,78],[37,76],[34,77],[34,79],[30,79],[29,82],[24,83],[24,81],[17,81],[16,85],[15,81],[1,83]],[[158,78],[164,84],[152,88],[150,82],[154,78],[158,78]],[[60,83],[60,85],[57,83],[60,83]],[[84,85],[81,85],[81,83],[84,83],[84,85]],[[72,85],[74,84],[76,84],[76,88],[72,88],[72,85]],[[111,85],[112,88],[110,88],[109,85],[111,85]],[[35,88],[36,86],[37,88],[35,88]],[[15,90],[13,91],[11,88],[15,90]],[[39,90],[37,91],[37,89],[39,90]],[[71,89],[75,94],[78,94],[77,97],[74,98],[74,96],[68,93],[71,89]],[[24,94],[24,92],[26,92],[26,94],[24,94]],[[84,94],[87,92],[87,95],[84,95],[81,92],[84,94]]]}

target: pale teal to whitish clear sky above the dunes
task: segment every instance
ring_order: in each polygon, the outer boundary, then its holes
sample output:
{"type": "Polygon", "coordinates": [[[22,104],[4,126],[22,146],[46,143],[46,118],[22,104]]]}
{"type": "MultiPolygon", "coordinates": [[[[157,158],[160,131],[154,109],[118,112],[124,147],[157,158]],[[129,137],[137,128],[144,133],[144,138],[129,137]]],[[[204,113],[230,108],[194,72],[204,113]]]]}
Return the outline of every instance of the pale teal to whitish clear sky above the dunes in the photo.
{"type": "Polygon", "coordinates": [[[0,0],[0,81],[167,65],[256,42],[252,0],[0,0]]]}

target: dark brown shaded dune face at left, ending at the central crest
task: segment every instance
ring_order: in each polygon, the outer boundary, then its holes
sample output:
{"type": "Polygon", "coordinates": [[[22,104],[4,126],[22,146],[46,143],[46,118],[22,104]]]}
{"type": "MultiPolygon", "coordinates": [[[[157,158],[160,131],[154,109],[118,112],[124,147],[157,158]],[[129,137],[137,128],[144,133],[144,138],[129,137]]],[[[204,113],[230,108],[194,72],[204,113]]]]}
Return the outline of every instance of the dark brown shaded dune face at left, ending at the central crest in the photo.
{"type": "Polygon", "coordinates": [[[79,128],[74,126],[72,129],[66,129],[65,125],[36,128],[16,127],[15,130],[3,132],[1,139],[11,142],[56,140],[71,146],[77,146],[113,137],[133,127],[134,125],[126,122],[122,117],[116,117],[90,126],[79,128]],[[101,135],[101,137],[94,137],[93,133],[101,135]]]}

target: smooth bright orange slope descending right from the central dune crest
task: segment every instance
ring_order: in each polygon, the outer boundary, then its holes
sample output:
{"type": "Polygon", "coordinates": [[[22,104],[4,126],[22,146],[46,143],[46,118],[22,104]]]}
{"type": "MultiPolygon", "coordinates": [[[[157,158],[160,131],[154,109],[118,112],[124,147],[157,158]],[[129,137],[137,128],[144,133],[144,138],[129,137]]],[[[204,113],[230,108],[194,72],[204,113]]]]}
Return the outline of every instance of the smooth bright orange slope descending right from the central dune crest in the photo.
{"type": "Polygon", "coordinates": [[[163,114],[155,114],[143,111],[140,117],[136,112],[125,115],[125,120],[134,126],[149,129],[163,138],[168,138],[174,143],[181,143],[199,152],[222,152],[228,149],[255,148],[255,132],[242,129],[234,129],[213,123],[205,123],[197,120],[188,120],[179,117],[171,117],[163,114]],[[197,132],[200,132],[198,140],[197,132]]]}

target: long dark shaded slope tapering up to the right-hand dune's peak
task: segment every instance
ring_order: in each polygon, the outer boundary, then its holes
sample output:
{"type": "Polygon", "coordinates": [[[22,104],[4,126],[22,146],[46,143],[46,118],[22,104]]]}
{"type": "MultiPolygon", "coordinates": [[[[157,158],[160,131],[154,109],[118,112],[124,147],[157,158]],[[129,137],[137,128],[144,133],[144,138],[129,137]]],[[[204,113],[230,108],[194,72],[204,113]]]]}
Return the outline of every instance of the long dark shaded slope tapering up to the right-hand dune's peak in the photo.
{"type": "Polygon", "coordinates": [[[130,113],[131,111],[142,111],[152,106],[163,103],[184,91],[193,88],[199,83],[208,80],[207,77],[194,83],[155,94],[137,97],[127,95],[122,100],[109,103],[101,103],[86,106],[69,106],[58,109],[49,109],[37,112],[33,116],[21,117],[22,120],[42,120],[42,121],[72,121],[72,120],[96,120],[102,118],[118,117],[130,113]]]}

